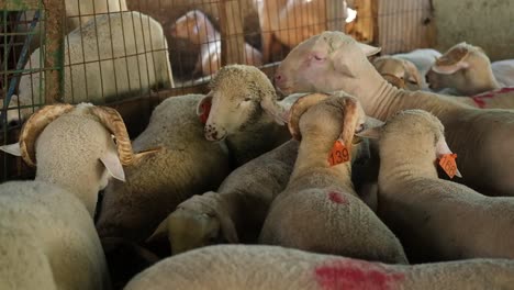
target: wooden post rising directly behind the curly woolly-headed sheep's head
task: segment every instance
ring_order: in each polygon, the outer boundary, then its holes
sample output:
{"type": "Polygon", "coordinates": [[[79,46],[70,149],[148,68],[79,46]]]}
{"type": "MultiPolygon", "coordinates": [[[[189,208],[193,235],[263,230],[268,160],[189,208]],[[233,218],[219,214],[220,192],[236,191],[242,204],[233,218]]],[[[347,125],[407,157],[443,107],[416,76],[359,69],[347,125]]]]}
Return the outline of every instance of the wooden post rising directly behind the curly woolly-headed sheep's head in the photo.
{"type": "Polygon", "coordinates": [[[222,47],[222,66],[244,64],[245,37],[243,18],[238,0],[220,1],[220,33],[222,47]]]}

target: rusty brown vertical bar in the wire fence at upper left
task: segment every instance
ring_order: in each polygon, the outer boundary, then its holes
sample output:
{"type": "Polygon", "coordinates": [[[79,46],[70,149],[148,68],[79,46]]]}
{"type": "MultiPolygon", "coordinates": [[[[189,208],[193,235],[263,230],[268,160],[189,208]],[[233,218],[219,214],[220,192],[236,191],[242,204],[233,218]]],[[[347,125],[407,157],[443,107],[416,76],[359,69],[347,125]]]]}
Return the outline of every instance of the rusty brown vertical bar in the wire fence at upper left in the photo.
{"type": "Polygon", "coordinates": [[[60,100],[64,90],[64,0],[44,0],[45,15],[45,103],[60,100]]]}

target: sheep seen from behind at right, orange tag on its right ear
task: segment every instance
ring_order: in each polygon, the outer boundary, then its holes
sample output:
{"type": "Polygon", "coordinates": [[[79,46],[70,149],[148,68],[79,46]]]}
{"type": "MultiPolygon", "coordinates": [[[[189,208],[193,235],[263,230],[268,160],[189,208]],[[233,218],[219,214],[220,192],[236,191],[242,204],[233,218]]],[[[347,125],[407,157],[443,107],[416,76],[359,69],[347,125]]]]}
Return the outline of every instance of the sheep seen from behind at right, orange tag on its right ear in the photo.
{"type": "Polygon", "coordinates": [[[446,160],[451,152],[437,118],[403,111],[361,134],[380,137],[378,214],[411,261],[514,258],[514,200],[438,179],[442,159],[448,174],[458,169],[446,160]]]}

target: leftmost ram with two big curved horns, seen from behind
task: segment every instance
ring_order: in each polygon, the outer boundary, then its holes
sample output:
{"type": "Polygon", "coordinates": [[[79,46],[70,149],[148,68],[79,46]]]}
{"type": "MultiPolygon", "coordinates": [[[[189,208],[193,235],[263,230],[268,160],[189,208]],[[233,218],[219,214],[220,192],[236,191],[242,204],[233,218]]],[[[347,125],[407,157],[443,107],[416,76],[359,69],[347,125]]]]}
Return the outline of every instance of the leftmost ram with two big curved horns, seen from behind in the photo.
{"type": "Polygon", "coordinates": [[[0,280],[8,289],[110,289],[94,231],[98,191],[138,163],[120,114],[91,104],[34,113],[2,150],[37,165],[35,180],[0,186],[0,280]],[[111,137],[115,136],[116,146],[111,137]]]}

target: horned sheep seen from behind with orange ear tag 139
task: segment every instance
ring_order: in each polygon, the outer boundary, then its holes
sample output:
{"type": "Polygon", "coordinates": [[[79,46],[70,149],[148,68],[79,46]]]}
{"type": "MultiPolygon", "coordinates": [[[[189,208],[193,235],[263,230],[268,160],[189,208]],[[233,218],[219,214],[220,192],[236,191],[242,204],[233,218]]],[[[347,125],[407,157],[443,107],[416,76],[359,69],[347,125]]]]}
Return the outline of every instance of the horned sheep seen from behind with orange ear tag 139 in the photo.
{"type": "Polygon", "coordinates": [[[354,132],[367,125],[357,100],[309,94],[289,115],[291,134],[302,141],[289,183],[271,203],[259,243],[407,264],[398,238],[360,200],[350,180],[348,161],[360,149],[354,132]],[[334,149],[337,144],[347,147],[334,149]]]}

